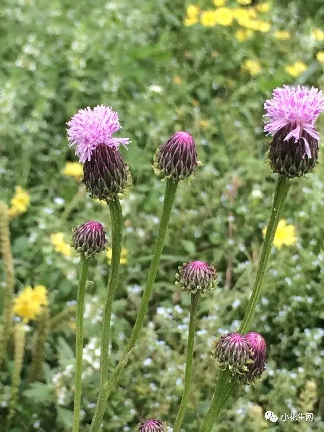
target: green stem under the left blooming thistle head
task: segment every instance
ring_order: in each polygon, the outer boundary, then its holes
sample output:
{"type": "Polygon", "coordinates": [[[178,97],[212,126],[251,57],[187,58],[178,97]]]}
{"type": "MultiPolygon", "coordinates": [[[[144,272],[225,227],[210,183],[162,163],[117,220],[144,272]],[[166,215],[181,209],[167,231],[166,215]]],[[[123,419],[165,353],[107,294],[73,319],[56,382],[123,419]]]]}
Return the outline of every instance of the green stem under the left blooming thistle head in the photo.
{"type": "Polygon", "coordinates": [[[108,202],[111,214],[111,237],[112,237],[112,257],[111,267],[107,284],[107,298],[102,324],[101,333],[101,357],[100,357],[100,389],[107,382],[108,358],[109,358],[109,334],[112,304],[117,288],[118,271],[121,253],[121,241],[123,238],[123,215],[118,198],[108,202]]]}

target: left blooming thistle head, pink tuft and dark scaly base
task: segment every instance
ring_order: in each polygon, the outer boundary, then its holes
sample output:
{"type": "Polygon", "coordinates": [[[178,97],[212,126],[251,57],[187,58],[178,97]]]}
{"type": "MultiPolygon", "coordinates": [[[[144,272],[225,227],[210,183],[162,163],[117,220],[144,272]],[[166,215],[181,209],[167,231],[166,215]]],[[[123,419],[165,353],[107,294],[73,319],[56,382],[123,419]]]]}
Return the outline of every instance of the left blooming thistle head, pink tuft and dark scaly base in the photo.
{"type": "Polygon", "coordinates": [[[119,145],[128,138],[112,135],[121,129],[118,114],[112,108],[98,105],[80,109],[67,123],[69,145],[84,162],[83,182],[94,198],[114,200],[131,185],[128,166],[119,153],[119,145]]]}

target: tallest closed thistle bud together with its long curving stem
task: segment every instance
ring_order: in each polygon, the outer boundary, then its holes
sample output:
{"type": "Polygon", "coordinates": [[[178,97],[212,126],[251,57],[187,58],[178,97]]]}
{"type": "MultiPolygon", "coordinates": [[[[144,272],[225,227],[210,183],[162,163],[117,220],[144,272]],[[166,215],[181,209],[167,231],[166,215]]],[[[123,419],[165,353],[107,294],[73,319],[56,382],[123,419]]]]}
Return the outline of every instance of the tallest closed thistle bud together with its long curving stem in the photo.
{"type": "Polygon", "coordinates": [[[159,260],[163,250],[169,218],[175,198],[175,193],[180,180],[188,178],[195,171],[198,162],[193,138],[187,132],[174,134],[158,150],[154,158],[154,170],[162,179],[166,180],[163,209],[160,218],[157,238],[153,250],[153,257],[148,271],[141,304],[137,313],[136,321],[125,351],[114,369],[110,379],[100,388],[97,406],[91,423],[91,431],[97,432],[104,416],[106,404],[111,390],[116,384],[121,372],[127,365],[129,356],[140,334],[145,319],[148,303],[151,297],[159,260]],[[164,149],[168,151],[164,151],[164,149]],[[160,157],[158,155],[161,155],[160,157]],[[188,158],[192,156],[192,160],[188,158]],[[168,168],[167,168],[168,167],[168,168]]]}

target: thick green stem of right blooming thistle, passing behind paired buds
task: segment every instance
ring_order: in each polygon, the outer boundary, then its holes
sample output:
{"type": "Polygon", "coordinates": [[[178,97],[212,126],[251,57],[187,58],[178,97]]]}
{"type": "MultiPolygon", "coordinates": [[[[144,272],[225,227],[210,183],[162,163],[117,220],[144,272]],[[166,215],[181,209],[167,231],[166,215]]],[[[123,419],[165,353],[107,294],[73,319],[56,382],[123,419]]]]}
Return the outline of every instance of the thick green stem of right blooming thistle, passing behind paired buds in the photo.
{"type": "MultiPolygon", "coordinates": [[[[260,262],[258,266],[254,287],[252,290],[252,294],[244,318],[239,328],[239,333],[241,334],[244,334],[248,331],[254,317],[255,308],[257,306],[260,293],[261,293],[262,282],[266,273],[267,262],[271,252],[273,239],[282,214],[282,210],[284,209],[285,201],[290,186],[291,186],[291,182],[287,179],[286,176],[280,175],[278,177],[276,189],[274,192],[270,220],[269,220],[269,224],[263,242],[263,247],[262,247],[262,252],[261,252],[261,257],[260,257],[260,262]]],[[[234,379],[230,381],[229,372],[221,371],[219,374],[211,407],[204,420],[203,426],[200,429],[201,432],[210,432],[212,430],[213,424],[218,414],[220,413],[221,409],[223,408],[226,400],[228,399],[232,390],[234,389],[234,386],[235,386],[235,381],[234,379]]]]}

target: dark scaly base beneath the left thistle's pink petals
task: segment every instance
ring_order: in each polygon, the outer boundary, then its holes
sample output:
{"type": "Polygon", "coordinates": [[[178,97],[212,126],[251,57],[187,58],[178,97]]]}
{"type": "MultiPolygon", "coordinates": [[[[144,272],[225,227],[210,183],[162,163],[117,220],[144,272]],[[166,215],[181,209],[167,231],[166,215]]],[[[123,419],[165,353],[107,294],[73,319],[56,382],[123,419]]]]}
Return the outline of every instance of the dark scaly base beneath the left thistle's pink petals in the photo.
{"type": "Polygon", "coordinates": [[[128,166],[118,149],[104,144],[92,152],[90,161],[83,167],[83,182],[92,197],[99,200],[114,200],[127,194],[132,184],[128,166]]]}

